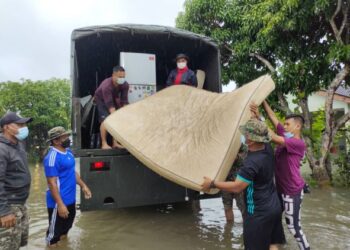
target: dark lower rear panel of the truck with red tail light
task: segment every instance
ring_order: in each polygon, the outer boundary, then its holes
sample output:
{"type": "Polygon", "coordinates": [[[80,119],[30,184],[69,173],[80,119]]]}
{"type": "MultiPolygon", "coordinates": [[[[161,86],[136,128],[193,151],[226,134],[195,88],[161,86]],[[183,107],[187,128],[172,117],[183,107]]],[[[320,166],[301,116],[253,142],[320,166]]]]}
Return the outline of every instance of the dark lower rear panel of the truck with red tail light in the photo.
{"type": "Polygon", "coordinates": [[[130,154],[80,157],[80,175],[92,192],[89,200],[81,194],[82,211],[199,199],[199,192],[168,181],[130,154]]]}

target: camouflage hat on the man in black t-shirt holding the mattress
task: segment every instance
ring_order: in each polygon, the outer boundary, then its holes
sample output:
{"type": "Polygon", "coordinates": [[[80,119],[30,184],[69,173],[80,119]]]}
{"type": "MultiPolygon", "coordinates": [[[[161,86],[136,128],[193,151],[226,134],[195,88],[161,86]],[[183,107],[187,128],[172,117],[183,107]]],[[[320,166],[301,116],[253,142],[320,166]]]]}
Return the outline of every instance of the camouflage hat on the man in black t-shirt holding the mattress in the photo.
{"type": "Polygon", "coordinates": [[[243,135],[248,135],[248,139],[254,142],[269,142],[271,136],[264,122],[257,119],[250,119],[246,124],[239,127],[243,135]]]}

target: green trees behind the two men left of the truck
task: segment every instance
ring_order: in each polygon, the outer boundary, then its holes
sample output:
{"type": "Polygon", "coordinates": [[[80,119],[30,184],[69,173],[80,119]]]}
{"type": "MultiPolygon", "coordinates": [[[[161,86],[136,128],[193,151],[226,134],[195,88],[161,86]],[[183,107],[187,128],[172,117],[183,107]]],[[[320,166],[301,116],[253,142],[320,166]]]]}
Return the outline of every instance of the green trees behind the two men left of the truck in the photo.
{"type": "Polygon", "coordinates": [[[9,110],[33,117],[27,147],[33,158],[40,158],[47,148],[47,131],[70,126],[70,83],[56,78],[0,83],[0,115],[9,110]]]}

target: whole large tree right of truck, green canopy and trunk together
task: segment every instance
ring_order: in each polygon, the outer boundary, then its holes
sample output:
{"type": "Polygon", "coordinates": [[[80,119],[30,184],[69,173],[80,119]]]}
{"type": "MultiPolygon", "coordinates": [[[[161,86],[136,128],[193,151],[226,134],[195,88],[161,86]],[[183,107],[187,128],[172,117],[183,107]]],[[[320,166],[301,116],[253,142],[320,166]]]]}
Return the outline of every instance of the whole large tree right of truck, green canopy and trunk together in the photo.
{"type": "Polygon", "coordinates": [[[296,97],[310,135],[308,161],[319,180],[329,179],[329,149],[350,119],[348,113],[336,122],[332,106],[335,90],[349,83],[349,6],[349,0],[186,0],[176,20],[177,27],[218,42],[224,83],[233,80],[240,86],[270,72],[275,107],[290,112],[285,95],[296,97]],[[327,91],[325,128],[316,144],[307,100],[321,89],[327,91]]]}

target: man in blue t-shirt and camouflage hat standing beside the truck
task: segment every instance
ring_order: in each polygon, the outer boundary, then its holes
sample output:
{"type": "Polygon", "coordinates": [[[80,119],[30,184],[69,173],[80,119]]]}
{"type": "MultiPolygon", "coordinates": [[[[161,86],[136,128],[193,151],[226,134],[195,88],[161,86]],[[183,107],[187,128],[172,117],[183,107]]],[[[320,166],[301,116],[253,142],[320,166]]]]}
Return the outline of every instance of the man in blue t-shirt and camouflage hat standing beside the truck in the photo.
{"type": "Polygon", "coordinates": [[[49,213],[49,228],[46,241],[55,246],[66,238],[75,218],[76,184],[79,184],[85,198],[91,198],[91,192],[75,171],[75,159],[69,149],[69,135],[63,127],[55,127],[48,132],[51,146],[44,158],[45,175],[49,189],[46,192],[46,204],[49,213]]]}

